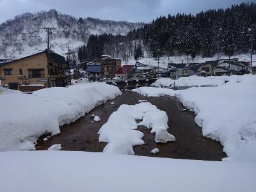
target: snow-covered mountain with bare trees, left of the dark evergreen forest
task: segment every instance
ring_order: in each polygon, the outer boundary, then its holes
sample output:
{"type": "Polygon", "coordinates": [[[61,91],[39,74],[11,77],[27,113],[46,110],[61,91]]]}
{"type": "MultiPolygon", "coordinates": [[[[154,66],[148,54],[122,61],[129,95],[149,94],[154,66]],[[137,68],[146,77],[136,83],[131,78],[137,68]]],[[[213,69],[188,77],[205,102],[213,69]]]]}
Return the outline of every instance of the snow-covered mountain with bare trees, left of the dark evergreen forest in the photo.
{"type": "Polygon", "coordinates": [[[24,13],[0,24],[0,58],[20,58],[47,47],[45,27],[55,28],[50,36],[51,49],[67,52],[83,45],[90,35],[112,33],[125,35],[143,23],[100,20],[90,17],[77,19],[56,10],[24,13]]]}

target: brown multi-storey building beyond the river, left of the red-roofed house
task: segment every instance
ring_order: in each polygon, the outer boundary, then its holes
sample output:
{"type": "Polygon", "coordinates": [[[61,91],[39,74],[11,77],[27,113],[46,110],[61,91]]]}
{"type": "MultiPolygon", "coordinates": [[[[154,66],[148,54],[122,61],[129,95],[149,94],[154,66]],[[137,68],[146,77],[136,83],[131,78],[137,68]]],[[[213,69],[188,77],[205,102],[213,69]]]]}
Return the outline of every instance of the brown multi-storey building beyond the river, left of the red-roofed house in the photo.
{"type": "Polygon", "coordinates": [[[120,59],[105,56],[100,60],[100,76],[102,78],[112,79],[119,68],[121,68],[120,59]]]}

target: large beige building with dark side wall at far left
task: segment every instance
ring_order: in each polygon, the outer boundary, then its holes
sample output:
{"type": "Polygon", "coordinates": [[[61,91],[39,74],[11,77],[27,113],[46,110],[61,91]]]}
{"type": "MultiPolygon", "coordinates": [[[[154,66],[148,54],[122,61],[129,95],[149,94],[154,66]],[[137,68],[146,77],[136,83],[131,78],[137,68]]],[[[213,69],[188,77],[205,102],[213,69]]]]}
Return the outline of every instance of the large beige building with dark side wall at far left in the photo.
{"type": "Polygon", "coordinates": [[[47,51],[20,58],[0,65],[1,86],[15,90],[33,91],[50,86],[65,86],[65,58],[51,52],[49,76],[47,51]]]}

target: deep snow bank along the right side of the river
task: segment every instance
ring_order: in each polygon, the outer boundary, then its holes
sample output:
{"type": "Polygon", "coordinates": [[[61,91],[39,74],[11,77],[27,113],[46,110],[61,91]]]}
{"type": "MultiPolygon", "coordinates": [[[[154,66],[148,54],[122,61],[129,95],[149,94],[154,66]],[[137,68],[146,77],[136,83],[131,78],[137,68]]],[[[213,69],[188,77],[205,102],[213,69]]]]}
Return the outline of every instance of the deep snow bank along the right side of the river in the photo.
{"type": "MultiPolygon", "coordinates": [[[[214,77],[212,84],[218,78],[221,82],[226,77],[214,77]]],[[[256,161],[256,76],[230,76],[226,80],[228,83],[215,87],[178,91],[141,87],[133,91],[149,97],[179,98],[186,108],[195,111],[195,122],[204,136],[221,142],[228,155],[225,160],[256,161]]]]}

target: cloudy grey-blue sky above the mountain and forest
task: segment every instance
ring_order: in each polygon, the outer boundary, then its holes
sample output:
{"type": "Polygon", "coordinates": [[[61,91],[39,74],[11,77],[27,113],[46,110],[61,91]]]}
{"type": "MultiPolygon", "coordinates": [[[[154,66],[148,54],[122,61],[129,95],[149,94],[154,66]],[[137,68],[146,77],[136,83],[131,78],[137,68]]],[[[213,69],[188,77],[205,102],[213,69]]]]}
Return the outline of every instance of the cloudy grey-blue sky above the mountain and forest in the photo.
{"type": "Polygon", "coordinates": [[[150,22],[168,13],[198,13],[241,2],[248,0],[0,0],[0,23],[25,12],[52,8],[75,17],[150,22]]]}

